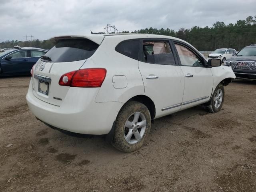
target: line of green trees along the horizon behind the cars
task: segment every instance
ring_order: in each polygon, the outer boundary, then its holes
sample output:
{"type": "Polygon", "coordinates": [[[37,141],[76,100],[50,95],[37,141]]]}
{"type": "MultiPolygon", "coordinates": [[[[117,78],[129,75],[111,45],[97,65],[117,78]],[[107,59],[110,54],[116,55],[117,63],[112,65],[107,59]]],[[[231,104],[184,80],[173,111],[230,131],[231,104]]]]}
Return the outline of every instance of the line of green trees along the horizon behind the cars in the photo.
{"type": "MultiPolygon", "coordinates": [[[[122,31],[119,33],[140,33],[140,34],[159,34],[174,36],[192,44],[198,50],[215,50],[217,48],[235,48],[240,50],[244,46],[256,44],[256,16],[248,16],[246,20],[238,20],[235,24],[225,24],[215,22],[212,27],[194,26],[190,29],[180,28],[175,31],[172,29],[146,28],[132,32],[122,31]]],[[[98,33],[102,34],[102,32],[98,33]]],[[[20,47],[37,47],[42,49],[52,48],[50,40],[32,41],[4,41],[0,43],[0,48],[12,48],[14,45],[20,47]]]]}

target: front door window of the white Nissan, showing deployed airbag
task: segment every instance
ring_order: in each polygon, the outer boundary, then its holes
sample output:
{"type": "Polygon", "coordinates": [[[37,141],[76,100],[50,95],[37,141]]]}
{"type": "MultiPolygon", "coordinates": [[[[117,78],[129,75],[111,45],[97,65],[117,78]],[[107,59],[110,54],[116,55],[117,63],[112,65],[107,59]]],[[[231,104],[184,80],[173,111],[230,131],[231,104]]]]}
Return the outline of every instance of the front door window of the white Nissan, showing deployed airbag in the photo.
{"type": "Polygon", "coordinates": [[[175,44],[175,47],[178,51],[178,55],[180,57],[181,65],[184,66],[194,66],[194,67],[204,67],[201,59],[194,54],[191,50],[186,48],[183,45],[175,44]]]}

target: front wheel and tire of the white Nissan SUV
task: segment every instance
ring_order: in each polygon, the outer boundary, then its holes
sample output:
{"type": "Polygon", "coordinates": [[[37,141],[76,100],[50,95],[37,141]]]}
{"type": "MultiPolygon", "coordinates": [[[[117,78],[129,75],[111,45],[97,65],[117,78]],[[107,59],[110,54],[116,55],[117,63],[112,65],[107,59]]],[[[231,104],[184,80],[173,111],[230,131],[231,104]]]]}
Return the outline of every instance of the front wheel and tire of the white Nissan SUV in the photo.
{"type": "Polygon", "coordinates": [[[216,87],[216,89],[214,90],[214,92],[212,94],[211,100],[206,104],[206,109],[211,113],[219,112],[221,110],[223,102],[224,102],[224,96],[225,96],[224,86],[222,84],[218,84],[218,86],[216,87]],[[221,103],[219,103],[220,97],[219,98],[216,97],[216,95],[219,96],[220,92],[222,92],[221,103]],[[216,105],[216,102],[217,102],[217,105],[216,105]]]}

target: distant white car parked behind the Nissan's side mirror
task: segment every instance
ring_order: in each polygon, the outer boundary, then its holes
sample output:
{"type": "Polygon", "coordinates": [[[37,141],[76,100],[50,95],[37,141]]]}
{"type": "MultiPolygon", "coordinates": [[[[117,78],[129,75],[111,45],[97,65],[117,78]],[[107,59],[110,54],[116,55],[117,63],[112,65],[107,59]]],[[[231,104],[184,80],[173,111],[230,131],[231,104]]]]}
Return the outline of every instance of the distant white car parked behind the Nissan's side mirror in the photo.
{"type": "Polygon", "coordinates": [[[214,52],[208,55],[207,59],[212,59],[212,58],[217,58],[222,60],[222,63],[225,62],[225,60],[231,58],[236,54],[236,50],[232,48],[221,48],[221,49],[216,49],[214,52]]]}

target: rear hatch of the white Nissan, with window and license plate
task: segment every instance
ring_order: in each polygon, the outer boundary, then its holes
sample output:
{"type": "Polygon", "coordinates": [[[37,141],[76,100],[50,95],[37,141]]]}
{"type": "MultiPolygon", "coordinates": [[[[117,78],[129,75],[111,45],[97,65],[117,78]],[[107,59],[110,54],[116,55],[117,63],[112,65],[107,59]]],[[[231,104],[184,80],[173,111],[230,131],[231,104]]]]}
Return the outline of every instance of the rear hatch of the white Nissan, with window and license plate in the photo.
{"type": "Polygon", "coordinates": [[[38,99],[60,106],[69,86],[60,86],[63,74],[79,70],[92,56],[103,40],[103,36],[64,36],[51,40],[55,46],[38,60],[33,71],[33,94],[38,99]]]}

